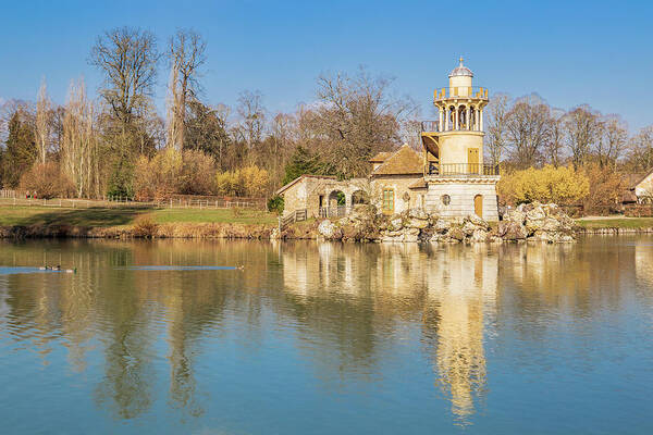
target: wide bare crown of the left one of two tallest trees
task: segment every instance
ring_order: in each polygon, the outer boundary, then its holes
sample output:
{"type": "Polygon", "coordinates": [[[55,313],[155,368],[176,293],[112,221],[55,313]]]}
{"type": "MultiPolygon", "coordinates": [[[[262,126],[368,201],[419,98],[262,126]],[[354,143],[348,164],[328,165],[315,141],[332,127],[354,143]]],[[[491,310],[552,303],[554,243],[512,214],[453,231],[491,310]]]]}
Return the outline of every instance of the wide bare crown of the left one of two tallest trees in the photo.
{"type": "Polygon", "coordinates": [[[106,32],[91,48],[89,63],[104,74],[99,94],[123,124],[151,96],[159,59],[155,35],[132,27],[106,32]]]}

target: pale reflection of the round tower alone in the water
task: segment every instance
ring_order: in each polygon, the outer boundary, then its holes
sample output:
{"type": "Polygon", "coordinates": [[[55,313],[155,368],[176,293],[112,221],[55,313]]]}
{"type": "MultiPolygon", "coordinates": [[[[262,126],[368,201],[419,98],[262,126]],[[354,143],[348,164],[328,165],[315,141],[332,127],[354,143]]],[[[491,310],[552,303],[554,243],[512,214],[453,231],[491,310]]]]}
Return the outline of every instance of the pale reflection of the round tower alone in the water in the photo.
{"type": "Polygon", "coordinates": [[[436,364],[441,387],[460,419],[473,412],[485,385],[483,318],[495,303],[498,262],[486,247],[452,247],[429,268],[429,302],[436,307],[436,364]]]}

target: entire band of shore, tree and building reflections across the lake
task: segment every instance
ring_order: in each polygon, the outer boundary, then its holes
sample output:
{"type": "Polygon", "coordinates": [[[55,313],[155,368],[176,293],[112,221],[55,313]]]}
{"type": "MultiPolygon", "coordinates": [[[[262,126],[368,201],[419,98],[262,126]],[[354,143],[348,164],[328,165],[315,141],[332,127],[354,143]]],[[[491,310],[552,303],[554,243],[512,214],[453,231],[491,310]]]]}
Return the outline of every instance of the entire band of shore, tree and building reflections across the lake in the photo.
{"type": "MultiPolygon", "coordinates": [[[[153,412],[161,389],[167,408],[182,419],[206,417],[219,393],[208,386],[217,369],[204,366],[205,358],[219,348],[233,359],[232,343],[248,347],[248,358],[264,358],[259,349],[276,339],[275,346],[292,344],[298,352],[292,358],[306,362],[330,395],[384,384],[389,361],[422,358],[432,371],[431,391],[446,399],[451,420],[467,424],[492,385],[489,343],[501,351],[512,333],[544,343],[551,313],[566,313],[578,332],[569,352],[582,364],[595,338],[587,320],[623,308],[620,291],[632,274],[642,289],[639,302],[650,306],[653,288],[646,240],[618,248],[609,241],[431,247],[104,240],[0,249],[0,265],[44,263],[78,273],[0,275],[0,348],[34,349],[44,366],[58,363],[56,351],[65,349],[70,370],[95,383],[96,406],[118,420],[153,412]],[[238,264],[245,271],[208,268],[238,264]],[[205,268],[133,268],[139,265],[205,268]]],[[[533,362],[537,349],[529,350],[516,353],[520,366],[551,369],[543,358],[533,362]]]]}

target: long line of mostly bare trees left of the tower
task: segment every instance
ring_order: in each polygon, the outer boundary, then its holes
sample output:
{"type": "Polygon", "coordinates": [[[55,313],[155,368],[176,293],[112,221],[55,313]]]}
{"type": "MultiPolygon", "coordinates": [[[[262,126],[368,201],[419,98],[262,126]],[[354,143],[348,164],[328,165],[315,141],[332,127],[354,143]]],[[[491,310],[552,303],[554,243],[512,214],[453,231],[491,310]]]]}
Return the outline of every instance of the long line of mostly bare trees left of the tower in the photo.
{"type": "Polygon", "coordinates": [[[365,69],[320,75],[316,101],[294,113],[271,113],[258,90],[242,91],[233,108],[211,104],[206,61],[207,41],[193,29],[162,47],[148,30],[104,32],[88,55],[102,76],[97,99],[75,79],[54,104],[44,80],[36,102],[4,104],[1,186],[41,197],[264,196],[304,170],[367,174],[367,160],[401,145],[416,113],[391,77],[365,69]],[[164,116],[153,104],[161,74],[164,116]]]}

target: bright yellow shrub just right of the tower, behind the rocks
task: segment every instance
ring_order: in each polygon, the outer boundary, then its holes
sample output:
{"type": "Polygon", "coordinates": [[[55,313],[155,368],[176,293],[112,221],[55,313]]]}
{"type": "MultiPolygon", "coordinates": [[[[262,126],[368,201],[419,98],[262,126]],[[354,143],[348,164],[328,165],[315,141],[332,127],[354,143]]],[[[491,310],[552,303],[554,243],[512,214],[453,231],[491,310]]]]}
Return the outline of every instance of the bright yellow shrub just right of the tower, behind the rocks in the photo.
{"type": "Polygon", "coordinates": [[[502,200],[510,204],[532,201],[565,204],[586,198],[590,181],[574,167],[546,165],[503,175],[497,188],[502,200]]]}

